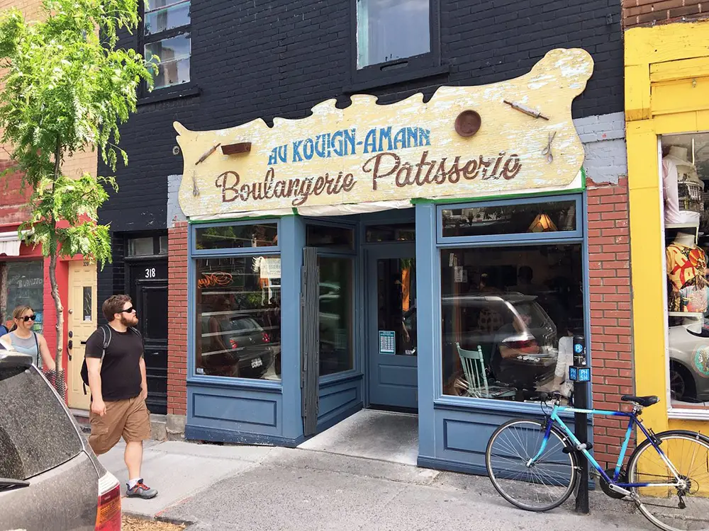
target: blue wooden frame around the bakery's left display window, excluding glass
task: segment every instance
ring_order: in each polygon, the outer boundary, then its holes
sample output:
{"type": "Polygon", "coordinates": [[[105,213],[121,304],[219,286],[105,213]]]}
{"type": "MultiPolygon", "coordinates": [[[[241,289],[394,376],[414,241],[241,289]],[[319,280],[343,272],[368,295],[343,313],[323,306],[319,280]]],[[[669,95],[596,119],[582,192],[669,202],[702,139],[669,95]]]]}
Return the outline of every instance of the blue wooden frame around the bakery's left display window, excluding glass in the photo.
{"type": "Polygon", "coordinates": [[[305,225],[296,215],[213,224],[191,224],[187,235],[187,419],[185,438],[294,447],[305,438],[301,422],[300,292],[305,225]],[[196,229],[257,223],[277,224],[278,246],[244,249],[195,248],[196,229]],[[281,256],[281,382],[197,375],[194,293],[198,258],[281,256]]]}

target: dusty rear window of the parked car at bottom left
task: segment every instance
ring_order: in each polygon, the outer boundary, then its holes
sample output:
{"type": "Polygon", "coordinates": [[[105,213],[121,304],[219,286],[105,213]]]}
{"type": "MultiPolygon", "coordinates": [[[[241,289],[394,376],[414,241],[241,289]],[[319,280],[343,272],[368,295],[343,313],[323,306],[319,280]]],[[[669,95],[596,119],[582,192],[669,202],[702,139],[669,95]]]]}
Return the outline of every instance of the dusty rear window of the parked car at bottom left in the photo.
{"type": "Polygon", "coordinates": [[[82,439],[34,368],[0,367],[0,477],[29,479],[75,457],[82,439]]]}

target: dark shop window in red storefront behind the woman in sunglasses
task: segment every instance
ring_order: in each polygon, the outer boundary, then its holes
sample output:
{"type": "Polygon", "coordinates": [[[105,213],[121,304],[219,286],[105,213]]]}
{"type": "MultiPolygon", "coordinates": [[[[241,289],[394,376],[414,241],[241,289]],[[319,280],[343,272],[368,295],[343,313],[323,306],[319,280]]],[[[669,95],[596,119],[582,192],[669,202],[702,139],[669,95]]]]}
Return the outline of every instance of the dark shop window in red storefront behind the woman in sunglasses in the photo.
{"type": "Polygon", "coordinates": [[[7,282],[3,287],[4,300],[7,301],[4,321],[12,319],[12,312],[18,306],[31,307],[37,319],[33,330],[42,333],[44,323],[44,263],[41,260],[31,262],[8,262],[7,282]]]}

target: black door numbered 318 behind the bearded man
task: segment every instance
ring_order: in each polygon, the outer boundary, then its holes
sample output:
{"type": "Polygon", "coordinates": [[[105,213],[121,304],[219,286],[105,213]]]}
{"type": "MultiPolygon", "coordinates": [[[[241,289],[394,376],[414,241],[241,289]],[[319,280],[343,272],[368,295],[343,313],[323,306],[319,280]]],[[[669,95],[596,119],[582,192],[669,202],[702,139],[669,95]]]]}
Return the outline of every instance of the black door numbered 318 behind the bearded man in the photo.
{"type": "Polygon", "coordinates": [[[130,267],[138,329],[145,341],[147,407],[167,413],[167,261],[141,261],[130,267]]]}

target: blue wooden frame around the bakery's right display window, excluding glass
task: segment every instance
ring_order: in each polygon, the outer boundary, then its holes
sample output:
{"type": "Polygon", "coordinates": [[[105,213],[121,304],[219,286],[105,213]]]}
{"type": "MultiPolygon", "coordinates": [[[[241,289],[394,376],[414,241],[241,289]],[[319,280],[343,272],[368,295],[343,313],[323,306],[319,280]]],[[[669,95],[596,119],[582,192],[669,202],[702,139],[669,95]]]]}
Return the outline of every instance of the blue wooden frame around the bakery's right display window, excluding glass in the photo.
{"type": "MultiPolygon", "coordinates": [[[[501,244],[581,244],[584,281],[584,327],[586,351],[591,362],[590,296],[588,294],[588,227],[586,193],[510,200],[419,202],[416,205],[416,266],[418,278],[418,465],[455,472],[486,474],[484,451],[489,436],[501,423],[515,417],[540,417],[538,404],[446,396],[442,389],[442,331],[440,293],[440,251],[462,247],[491,247],[501,244]],[[557,233],[504,234],[495,236],[442,236],[444,209],[530,203],[576,202],[576,229],[557,233]],[[427,280],[423,280],[427,279],[427,280]],[[430,281],[432,280],[432,282],[430,281]]],[[[591,400],[589,389],[589,400],[591,400]]],[[[591,402],[589,401],[589,404],[591,402]]],[[[564,420],[573,425],[573,416],[564,420]]],[[[588,420],[589,425],[592,419],[588,420]]],[[[592,431],[592,430],[591,430],[592,431]]]]}

